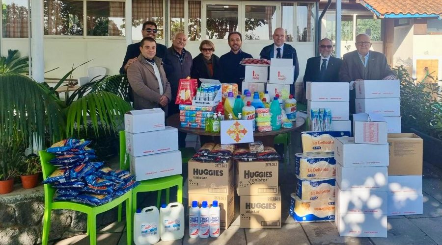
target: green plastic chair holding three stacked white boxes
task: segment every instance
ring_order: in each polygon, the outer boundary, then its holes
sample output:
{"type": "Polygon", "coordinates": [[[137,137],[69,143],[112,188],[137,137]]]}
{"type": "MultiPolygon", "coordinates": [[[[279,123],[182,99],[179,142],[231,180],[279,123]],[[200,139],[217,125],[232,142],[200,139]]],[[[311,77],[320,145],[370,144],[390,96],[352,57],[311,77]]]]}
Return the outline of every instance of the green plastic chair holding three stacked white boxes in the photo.
{"type": "MultiPolygon", "coordinates": [[[[126,153],[126,133],[125,131],[119,132],[120,138],[120,169],[129,169],[130,157],[126,153]]],[[[167,176],[163,178],[149,179],[138,181],[140,183],[137,187],[132,189],[132,216],[137,211],[137,194],[139,192],[153,192],[158,191],[157,195],[157,207],[160,208],[161,192],[166,189],[166,203],[169,203],[170,188],[178,186],[177,201],[183,202],[183,176],[177,174],[167,176]]],[[[127,210],[126,210],[127,212],[127,210]]],[[[118,221],[121,221],[122,206],[118,206],[118,221]]]]}

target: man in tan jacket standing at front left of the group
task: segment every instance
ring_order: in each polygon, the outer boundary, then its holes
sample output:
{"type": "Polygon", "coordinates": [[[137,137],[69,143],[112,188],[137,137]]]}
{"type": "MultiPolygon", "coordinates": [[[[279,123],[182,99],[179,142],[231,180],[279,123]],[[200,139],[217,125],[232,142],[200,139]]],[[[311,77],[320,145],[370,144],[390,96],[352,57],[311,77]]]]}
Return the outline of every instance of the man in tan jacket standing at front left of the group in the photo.
{"type": "Polygon", "coordinates": [[[172,95],[170,84],[163,69],[162,59],[156,57],[157,43],[145,37],[139,43],[137,62],[127,69],[127,79],[134,94],[136,110],[162,108],[167,115],[167,104],[172,95]]]}

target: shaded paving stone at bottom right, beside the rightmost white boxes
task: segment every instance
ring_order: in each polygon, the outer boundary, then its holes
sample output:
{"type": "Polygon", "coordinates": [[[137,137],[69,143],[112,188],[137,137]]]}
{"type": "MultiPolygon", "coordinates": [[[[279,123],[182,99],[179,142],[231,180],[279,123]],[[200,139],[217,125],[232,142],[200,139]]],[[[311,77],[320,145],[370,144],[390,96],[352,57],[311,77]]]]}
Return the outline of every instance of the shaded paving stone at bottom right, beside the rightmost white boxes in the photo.
{"type": "Polygon", "coordinates": [[[387,238],[370,238],[375,245],[404,245],[404,244],[435,244],[419,227],[408,219],[388,220],[387,238]]]}

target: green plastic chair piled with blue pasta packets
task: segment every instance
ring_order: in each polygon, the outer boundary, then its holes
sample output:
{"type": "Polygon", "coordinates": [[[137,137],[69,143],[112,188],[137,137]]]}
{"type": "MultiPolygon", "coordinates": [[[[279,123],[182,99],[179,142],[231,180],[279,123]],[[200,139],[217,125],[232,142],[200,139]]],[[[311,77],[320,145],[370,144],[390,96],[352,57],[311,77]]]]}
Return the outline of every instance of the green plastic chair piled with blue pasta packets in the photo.
{"type": "MultiPolygon", "coordinates": [[[[56,169],[56,167],[49,163],[49,161],[55,157],[55,155],[48,153],[44,150],[39,151],[41,167],[43,170],[43,179],[46,179],[52,172],[56,169]]],[[[80,211],[87,215],[87,235],[89,235],[90,244],[97,244],[97,223],[96,217],[97,214],[106,212],[111,210],[112,208],[120,205],[126,201],[126,227],[127,227],[127,244],[132,244],[132,217],[130,212],[130,207],[132,205],[132,192],[129,191],[123,196],[120,196],[112,201],[97,206],[89,206],[86,204],[81,204],[77,202],[71,201],[53,201],[53,197],[55,194],[55,188],[52,188],[50,184],[44,184],[45,190],[45,210],[43,216],[43,234],[42,234],[42,245],[48,244],[49,233],[51,230],[51,211],[53,209],[69,209],[80,211]]],[[[121,220],[121,217],[120,217],[121,220]]]]}

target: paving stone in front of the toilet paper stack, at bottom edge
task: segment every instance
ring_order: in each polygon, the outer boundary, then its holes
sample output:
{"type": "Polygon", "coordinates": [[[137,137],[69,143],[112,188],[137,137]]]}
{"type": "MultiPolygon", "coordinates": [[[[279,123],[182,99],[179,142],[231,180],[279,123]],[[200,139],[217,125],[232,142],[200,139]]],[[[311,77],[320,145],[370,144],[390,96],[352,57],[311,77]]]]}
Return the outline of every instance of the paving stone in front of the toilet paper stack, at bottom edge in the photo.
{"type": "Polygon", "coordinates": [[[334,222],[302,223],[301,226],[313,245],[344,243],[371,245],[366,237],[340,237],[334,222]]]}

